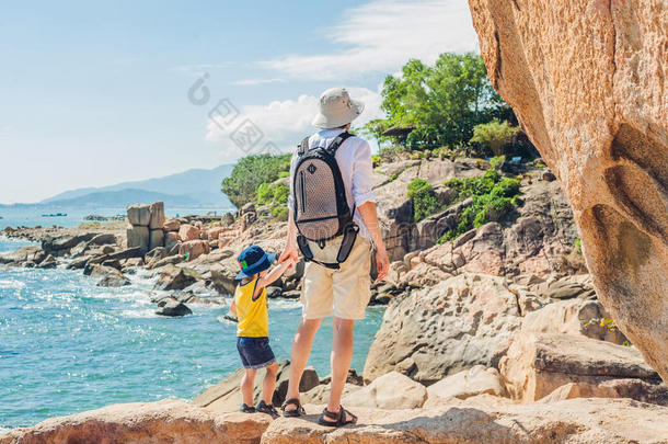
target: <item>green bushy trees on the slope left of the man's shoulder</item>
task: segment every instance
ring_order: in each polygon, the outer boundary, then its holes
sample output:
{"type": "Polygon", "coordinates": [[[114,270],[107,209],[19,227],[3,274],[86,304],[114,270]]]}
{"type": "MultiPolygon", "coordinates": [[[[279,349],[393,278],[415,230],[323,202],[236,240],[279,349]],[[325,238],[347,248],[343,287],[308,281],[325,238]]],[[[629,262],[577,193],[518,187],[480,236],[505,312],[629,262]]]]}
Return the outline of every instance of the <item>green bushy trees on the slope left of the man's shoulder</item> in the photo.
{"type": "Polygon", "coordinates": [[[255,198],[260,185],[274,182],[281,172],[290,169],[290,156],[256,155],[241,158],[230,175],[222,181],[221,191],[234,205],[243,206],[255,198]]]}

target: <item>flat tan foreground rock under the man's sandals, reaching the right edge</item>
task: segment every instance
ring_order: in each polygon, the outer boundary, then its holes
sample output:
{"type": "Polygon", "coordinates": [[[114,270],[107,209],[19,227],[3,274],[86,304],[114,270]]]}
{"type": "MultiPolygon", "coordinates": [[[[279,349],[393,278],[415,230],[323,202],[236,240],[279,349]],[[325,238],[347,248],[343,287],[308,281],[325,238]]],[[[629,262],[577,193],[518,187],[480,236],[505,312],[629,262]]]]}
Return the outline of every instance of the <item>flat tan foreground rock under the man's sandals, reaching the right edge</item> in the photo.
{"type": "MultiPolygon", "coordinates": [[[[473,398],[470,398],[473,399],[473,398]]],[[[452,400],[434,409],[352,409],[355,426],[318,425],[322,406],[307,406],[312,421],[279,418],[263,444],[315,443],[665,443],[668,408],[631,399],[569,399],[518,406],[452,400]]],[[[309,419],[310,419],[309,418],[309,419]]]]}

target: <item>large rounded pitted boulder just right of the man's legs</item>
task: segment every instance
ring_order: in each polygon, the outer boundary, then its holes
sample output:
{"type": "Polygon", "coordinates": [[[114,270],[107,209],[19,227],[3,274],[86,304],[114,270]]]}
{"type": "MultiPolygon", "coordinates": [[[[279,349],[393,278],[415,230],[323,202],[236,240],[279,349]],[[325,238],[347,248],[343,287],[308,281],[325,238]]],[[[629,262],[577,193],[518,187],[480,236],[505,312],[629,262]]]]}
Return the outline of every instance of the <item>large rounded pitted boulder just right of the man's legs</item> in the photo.
{"type": "Polygon", "coordinates": [[[364,377],[396,369],[434,384],[476,364],[496,366],[521,325],[516,295],[500,277],[464,273],[391,304],[364,377]]]}

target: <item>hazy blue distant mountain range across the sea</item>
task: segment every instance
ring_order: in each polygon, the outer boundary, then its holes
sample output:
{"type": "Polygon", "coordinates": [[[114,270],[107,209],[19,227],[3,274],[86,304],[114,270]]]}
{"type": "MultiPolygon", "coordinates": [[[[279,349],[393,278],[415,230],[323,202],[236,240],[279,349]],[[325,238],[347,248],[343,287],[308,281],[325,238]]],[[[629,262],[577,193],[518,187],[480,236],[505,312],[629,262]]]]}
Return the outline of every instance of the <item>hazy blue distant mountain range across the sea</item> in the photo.
{"type": "Polygon", "coordinates": [[[165,206],[231,208],[233,205],[220,192],[220,182],[233,168],[233,164],[222,164],[211,170],[193,169],[163,178],[70,190],[36,204],[14,206],[124,207],[136,202],[162,201],[165,206]]]}

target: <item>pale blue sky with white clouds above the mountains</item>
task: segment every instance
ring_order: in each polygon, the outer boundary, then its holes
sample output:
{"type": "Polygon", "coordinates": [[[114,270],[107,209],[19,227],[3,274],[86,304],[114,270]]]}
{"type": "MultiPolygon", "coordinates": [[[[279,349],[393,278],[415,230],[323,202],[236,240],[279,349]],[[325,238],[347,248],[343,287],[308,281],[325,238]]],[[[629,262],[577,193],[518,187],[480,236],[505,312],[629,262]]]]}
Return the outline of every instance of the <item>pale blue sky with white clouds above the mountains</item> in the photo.
{"type": "Polygon", "coordinates": [[[194,3],[0,5],[0,203],[287,151],[324,89],[362,99],[364,123],[410,58],[477,50],[465,0],[194,3]],[[221,100],[230,123],[209,117],[221,100]],[[263,135],[241,149],[247,122],[263,135]]]}

